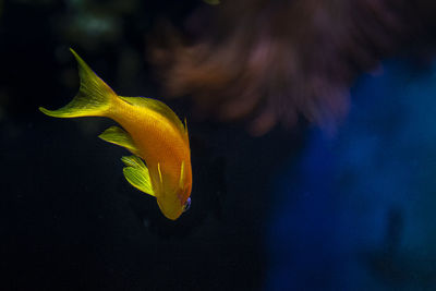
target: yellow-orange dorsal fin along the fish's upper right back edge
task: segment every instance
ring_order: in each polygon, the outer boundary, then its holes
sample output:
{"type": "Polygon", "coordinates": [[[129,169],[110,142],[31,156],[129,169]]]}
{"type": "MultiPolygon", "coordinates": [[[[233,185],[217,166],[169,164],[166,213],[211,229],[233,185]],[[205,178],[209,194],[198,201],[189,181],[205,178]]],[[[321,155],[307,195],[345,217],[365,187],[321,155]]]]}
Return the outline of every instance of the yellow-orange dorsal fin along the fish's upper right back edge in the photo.
{"type": "MultiPolygon", "coordinates": [[[[171,110],[166,104],[162,101],[152,99],[152,98],[145,98],[145,97],[123,97],[120,96],[121,99],[126,101],[128,104],[135,105],[135,106],[141,106],[141,107],[146,107],[160,116],[165,117],[168,121],[170,121],[180,132],[180,134],[183,136],[183,138],[187,141],[187,129],[183,126],[182,121],[179,119],[179,117],[174,113],[174,111],[171,110]]],[[[185,119],[185,124],[186,124],[186,119],[185,119]]]]}

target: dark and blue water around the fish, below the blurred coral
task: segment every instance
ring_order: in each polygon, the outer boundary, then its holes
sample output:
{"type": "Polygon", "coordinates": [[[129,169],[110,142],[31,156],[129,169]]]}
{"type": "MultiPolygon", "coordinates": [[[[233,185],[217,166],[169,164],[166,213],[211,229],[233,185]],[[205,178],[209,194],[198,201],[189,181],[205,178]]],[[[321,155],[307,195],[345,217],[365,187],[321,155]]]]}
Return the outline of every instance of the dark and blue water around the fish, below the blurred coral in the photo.
{"type": "Polygon", "coordinates": [[[74,96],[69,46],[116,92],[160,97],[143,35],[196,3],[81,3],[0,10],[1,290],[436,289],[433,61],[362,75],[334,136],[252,137],[168,101],[187,117],[194,175],[191,209],[169,221],[124,180],[128,153],[97,138],[111,121],[37,108],[74,96]]]}

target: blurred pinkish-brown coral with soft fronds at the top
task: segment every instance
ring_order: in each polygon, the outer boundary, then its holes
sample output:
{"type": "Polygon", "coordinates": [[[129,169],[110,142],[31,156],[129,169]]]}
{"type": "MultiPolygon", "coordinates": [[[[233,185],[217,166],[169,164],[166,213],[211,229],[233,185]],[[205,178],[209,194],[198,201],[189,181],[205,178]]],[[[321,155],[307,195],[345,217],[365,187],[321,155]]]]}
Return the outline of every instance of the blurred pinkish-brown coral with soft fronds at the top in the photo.
{"type": "Polygon", "coordinates": [[[347,112],[356,74],[376,68],[416,31],[417,17],[407,5],[403,0],[225,1],[192,15],[203,27],[193,40],[172,29],[153,47],[150,59],[170,96],[191,95],[202,114],[247,118],[253,134],[277,123],[292,126],[301,116],[330,128],[347,112]]]}

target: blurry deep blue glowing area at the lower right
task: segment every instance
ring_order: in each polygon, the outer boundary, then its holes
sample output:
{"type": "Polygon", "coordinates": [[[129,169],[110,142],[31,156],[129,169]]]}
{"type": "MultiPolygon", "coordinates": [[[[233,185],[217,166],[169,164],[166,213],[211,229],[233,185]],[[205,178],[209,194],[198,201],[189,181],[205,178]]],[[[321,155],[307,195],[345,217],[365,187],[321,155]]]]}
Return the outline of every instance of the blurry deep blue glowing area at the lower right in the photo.
{"type": "Polygon", "coordinates": [[[431,69],[390,61],[382,74],[361,77],[337,136],[314,130],[299,162],[274,181],[266,290],[435,286],[431,69]]]}

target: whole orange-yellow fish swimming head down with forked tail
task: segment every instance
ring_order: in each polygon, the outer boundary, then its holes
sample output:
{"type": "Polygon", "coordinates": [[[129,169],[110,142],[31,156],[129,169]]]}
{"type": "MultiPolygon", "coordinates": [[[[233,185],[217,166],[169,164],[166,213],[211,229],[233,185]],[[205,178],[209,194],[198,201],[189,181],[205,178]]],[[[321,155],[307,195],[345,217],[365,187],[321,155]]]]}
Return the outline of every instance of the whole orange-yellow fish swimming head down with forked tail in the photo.
{"type": "Polygon", "coordinates": [[[123,174],[137,190],[156,197],[160,211],[178,219],[191,205],[192,167],[186,119],[184,124],[164,102],[145,97],[117,95],[71,49],[77,61],[80,89],[64,107],[39,110],[55,118],[104,117],[110,126],[98,137],[126,148],[123,174]]]}

